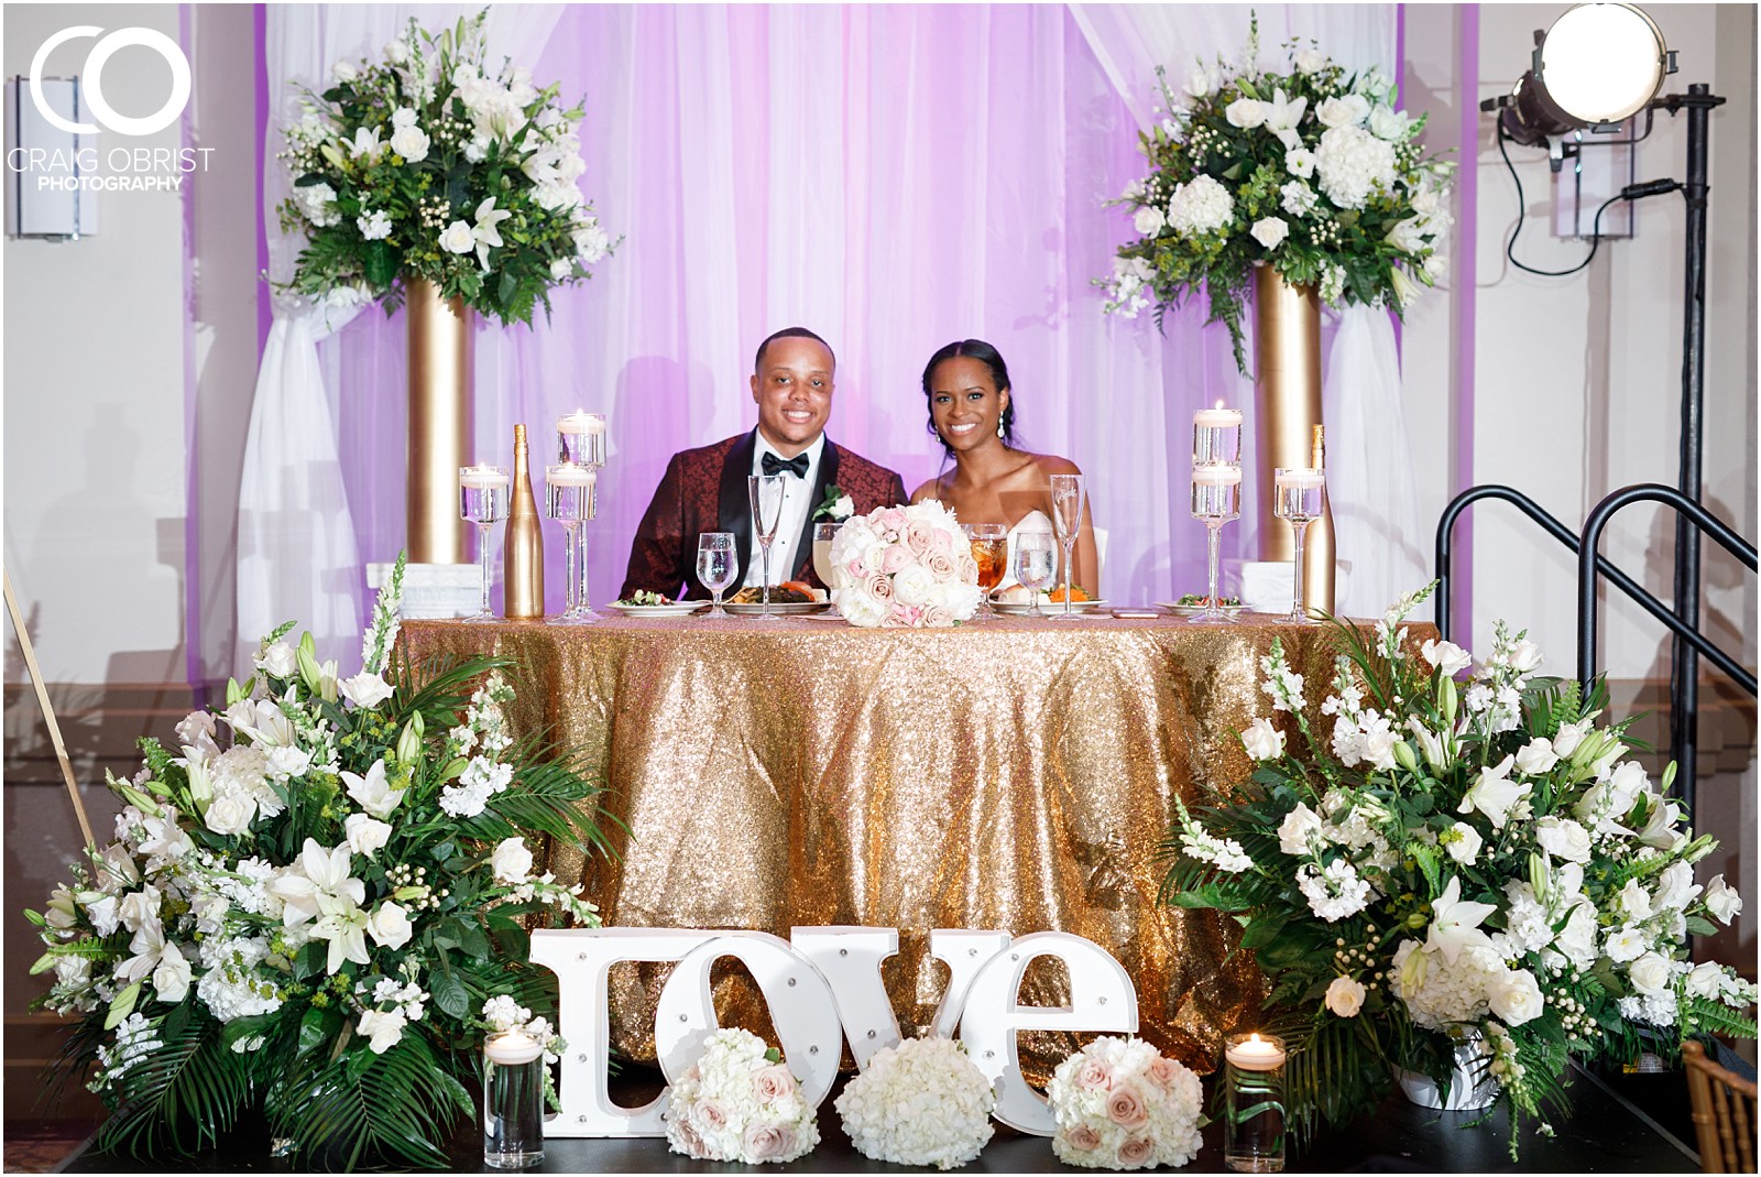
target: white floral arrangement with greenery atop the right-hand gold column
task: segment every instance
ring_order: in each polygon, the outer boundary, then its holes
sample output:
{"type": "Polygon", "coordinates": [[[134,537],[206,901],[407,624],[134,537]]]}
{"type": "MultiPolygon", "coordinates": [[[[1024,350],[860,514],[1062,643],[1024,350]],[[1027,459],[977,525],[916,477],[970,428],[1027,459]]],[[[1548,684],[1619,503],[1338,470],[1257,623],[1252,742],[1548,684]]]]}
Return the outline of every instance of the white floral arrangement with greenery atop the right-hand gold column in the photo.
{"type": "Polygon", "coordinates": [[[1256,264],[1330,307],[1396,312],[1448,268],[1453,164],[1425,155],[1425,118],[1395,109],[1377,69],[1347,76],[1312,46],[1286,49],[1287,70],[1263,69],[1256,19],[1240,63],[1201,60],[1180,90],[1157,70],[1162,120],[1139,136],[1150,174],[1116,201],[1139,236],[1095,280],[1106,312],[1153,305],[1157,322],[1203,287],[1206,322],[1227,324],[1243,374],[1256,264]]]}

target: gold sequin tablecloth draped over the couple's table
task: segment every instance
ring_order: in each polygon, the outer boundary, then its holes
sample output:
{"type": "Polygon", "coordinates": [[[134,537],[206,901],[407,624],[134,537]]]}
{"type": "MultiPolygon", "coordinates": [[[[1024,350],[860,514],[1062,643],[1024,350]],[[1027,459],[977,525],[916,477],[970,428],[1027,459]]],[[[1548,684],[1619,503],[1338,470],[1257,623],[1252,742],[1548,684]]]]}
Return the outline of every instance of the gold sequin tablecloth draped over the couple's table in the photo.
{"type": "MultiPolygon", "coordinates": [[[[1175,796],[1250,772],[1236,731],[1268,710],[1273,636],[1319,701],[1331,629],[1273,618],[407,622],[402,641],[416,659],[512,659],[514,728],[601,768],[620,860],[551,867],[586,881],[606,923],[896,927],[884,978],[907,1036],[946,981],[932,929],[1074,932],[1131,973],[1141,1033],[1210,1070],[1257,981],[1226,959],[1233,925],[1157,904],[1157,846],[1175,796]]],[[[613,1038],[636,1059],[653,1057],[667,967],[613,973],[613,1038]]],[[[755,988],[717,976],[724,1020],[759,1029],[755,988]]],[[[1060,967],[1035,966],[1021,1001],[1064,994],[1060,967]]],[[[1023,1066],[1067,1048],[1023,1036],[1023,1066]]]]}

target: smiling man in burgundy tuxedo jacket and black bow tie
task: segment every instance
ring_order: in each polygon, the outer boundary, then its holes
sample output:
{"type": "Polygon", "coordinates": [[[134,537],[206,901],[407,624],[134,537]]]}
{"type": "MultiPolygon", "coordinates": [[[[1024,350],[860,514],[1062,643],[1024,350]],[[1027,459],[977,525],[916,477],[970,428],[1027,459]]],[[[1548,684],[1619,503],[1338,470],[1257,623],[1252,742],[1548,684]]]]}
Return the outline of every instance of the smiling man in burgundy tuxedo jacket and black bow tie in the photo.
{"type": "Polygon", "coordinates": [[[826,500],[828,488],[836,486],[849,495],[856,514],[905,502],[905,483],[898,474],[840,449],[826,437],[836,366],[826,340],[807,328],[777,331],[759,344],[752,366],[757,428],[673,455],[636,529],[622,599],[630,599],[637,588],[674,599],[708,597],[697,583],[701,532],[734,534],[740,559],[734,588],[761,583],[747,492],[752,474],[785,476],[782,522],[771,544],[771,583],[821,583],[814,574],[814,513],[826,500]]]}

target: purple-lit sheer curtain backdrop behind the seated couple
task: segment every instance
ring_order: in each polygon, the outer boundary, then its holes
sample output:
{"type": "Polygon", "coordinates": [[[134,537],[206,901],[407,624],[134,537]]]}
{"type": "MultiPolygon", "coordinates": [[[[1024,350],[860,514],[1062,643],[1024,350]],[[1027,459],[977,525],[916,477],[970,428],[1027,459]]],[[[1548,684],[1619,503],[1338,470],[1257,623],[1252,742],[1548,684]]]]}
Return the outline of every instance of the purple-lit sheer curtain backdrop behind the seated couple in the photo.
{"type": "MultiPolygon", "coordinates": [[[[1365,25],[1368,7],[1351,19],[1365,25]]],[[[1090,476],[1106,594],[1168,599],[1203,581],[1203,529],[1185,504],[1190,416],[1219,398],[1249,403],[1250,386],[1199,307],[1169,314],[1159,335],[1148,317],[1102,317],[1090,285],[1131,236],[1102,203],[1143,173],[1113,79],[1143,46],[1113,46],[1102,67],[1090,41],[1129,37],[1129,14],[1099,32],[1085,14],[1085,35],[1064,5],[544,12],[555,28],[519,60],[585,97],[581,189],[625,240],[590,284],[553,296],[549,322],[479,329],[475,439],[479,460],[507,462],[516,421],[548,449],[562,412],[608,414],[595,599],[622,583],[667,456],[752,426],[752,351],[791,324],[836,349],[828,433],[907,488],[940,460],[923,361],[954,338],[990,340],[1009,361],[1025,444],[1090,476]]],[[[1196,55],[1240,48],[1247,9],[1201,12],[1231,35],[1166,53],[1176,76],[1196,55]]],[[[310,18],[276,7],[275,19],[310,18]]],[[[1293,21],[1314,32],[1303,12],[1275,19],[1261,12],[1266,60],[1293,21]]],[[[1374,46],[1393,19],[1368,25],[1374,46]]],[[[403,349],[402,315],[377,310],[319,345],[363,560],[403,543],[403,349]]],[[[1250,516],[1227,529],[1226,553],[1250,551],[1250,516]]],[[[546,555],[555,606],[560,532],[546,532],[546,555]]]]}

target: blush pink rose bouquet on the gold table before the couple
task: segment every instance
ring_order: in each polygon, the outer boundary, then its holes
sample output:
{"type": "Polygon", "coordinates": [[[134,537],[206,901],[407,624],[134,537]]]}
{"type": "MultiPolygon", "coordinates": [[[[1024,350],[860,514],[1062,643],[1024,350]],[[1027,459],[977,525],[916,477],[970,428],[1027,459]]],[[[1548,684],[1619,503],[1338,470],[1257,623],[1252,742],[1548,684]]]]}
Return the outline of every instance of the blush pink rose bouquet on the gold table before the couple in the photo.
{"type": "Polygon", "coordinates": [[[831,599],[852,626],[953,626],[979,608],[972,544],[935,499],[849,520],[831,541],[831,599]]]}

